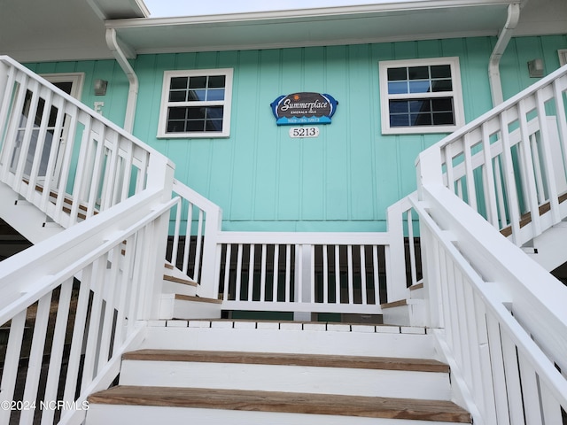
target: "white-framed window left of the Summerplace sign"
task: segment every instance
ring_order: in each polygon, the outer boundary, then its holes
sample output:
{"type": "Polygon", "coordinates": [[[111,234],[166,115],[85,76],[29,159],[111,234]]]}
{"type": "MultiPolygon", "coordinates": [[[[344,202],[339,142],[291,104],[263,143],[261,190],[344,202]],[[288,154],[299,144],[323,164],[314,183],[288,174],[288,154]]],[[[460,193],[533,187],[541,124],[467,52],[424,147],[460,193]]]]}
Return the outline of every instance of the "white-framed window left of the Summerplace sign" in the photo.
{"type": "Polygon", "coordinates": [[[232,69],[166,71],[158,137],[227,137],[232,69]]]}

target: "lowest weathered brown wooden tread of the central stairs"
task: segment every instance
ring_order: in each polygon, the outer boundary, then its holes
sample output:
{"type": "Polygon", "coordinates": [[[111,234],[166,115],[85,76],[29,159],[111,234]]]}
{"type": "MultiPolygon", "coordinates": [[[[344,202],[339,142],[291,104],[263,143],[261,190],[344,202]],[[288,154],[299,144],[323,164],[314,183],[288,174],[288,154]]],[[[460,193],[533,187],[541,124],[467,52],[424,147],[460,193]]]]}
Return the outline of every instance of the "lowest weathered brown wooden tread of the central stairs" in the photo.
{"type": "Polygon", "coordinates": [[[470,414],[449,401],[337,396],[276,391],[117,386],[89,396],[89,404],[193,407],[277,413],[470,423],[470,414]]]}

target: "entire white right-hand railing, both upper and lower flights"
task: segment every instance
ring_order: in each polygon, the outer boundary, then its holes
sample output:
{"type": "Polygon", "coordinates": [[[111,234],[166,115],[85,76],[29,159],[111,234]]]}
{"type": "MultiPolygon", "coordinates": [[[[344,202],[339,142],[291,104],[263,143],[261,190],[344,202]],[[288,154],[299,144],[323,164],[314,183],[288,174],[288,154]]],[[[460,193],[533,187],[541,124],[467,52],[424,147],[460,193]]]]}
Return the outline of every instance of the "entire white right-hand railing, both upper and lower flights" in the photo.
{"type": "Polygon", "coordinates": [[[418,158],[429,323],[475,423],[564,423],[567,287],[510,242],[567,217],[566,91],[563,67],[418,158]]]}

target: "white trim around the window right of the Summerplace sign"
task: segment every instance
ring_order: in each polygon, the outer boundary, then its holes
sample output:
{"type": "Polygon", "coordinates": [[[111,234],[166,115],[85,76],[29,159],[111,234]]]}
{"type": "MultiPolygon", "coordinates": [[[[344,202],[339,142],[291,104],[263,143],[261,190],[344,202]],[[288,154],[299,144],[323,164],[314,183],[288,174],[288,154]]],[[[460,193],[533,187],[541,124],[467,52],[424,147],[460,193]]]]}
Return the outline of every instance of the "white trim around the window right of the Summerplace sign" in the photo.
{"type": "MultiPolygon", "coordinates": [[[[383,135],[416,135],[424,133],[453,133],[457,128],[464,125],[464,111],[462,107],[462,85],[461,85],[461,67],[459,66],[459,58],[425,58],[425,59],[407,59],[407,60],[384,60],[379,62],[379,79],[380,79],[380,108],[382,119],[383,135]],[[421,126],[421,127],[390,127],[390,107],[389,100],[391,98],[400,97],[408,98],[412,95],[388,95],[388,68],[405,67],[405,66],[435,66],[449,65],[451,66],[451,77],[453,80],[453,91],[443,93],[443,97],[453,97],[454,104],[454,125],[453,126],[421,126]]],[[[415,95],[414,95],[415,96],[415,95]]],[[[416,96],[417,98],[426,96],[416,96]]]]}

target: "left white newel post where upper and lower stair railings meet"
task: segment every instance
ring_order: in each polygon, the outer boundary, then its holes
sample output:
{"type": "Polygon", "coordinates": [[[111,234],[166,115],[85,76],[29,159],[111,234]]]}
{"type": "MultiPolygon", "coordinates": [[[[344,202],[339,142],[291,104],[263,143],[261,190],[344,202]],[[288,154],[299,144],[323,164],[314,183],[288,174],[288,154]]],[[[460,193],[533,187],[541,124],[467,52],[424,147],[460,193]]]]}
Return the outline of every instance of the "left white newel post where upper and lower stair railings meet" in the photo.
{"type": "MultiPolygon", "coordinates": [[[[150,155],[148,165],[148,183],[146,189],[161,189],[160,202],[166,203],[171,200],[174,184],[175,166],[166,157],[150,155]]],[[[163,286],[164,261],[167,250],[167,235],[169,230],[169,213],[162,214],[153,222],[146,237],[144,257],[147,267],[146,277],[146,299],[144,303],[145,319],[158,319],[161,305],[161,293],[163,286]]]]}

